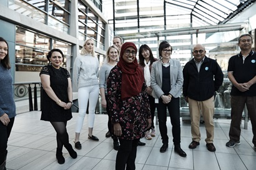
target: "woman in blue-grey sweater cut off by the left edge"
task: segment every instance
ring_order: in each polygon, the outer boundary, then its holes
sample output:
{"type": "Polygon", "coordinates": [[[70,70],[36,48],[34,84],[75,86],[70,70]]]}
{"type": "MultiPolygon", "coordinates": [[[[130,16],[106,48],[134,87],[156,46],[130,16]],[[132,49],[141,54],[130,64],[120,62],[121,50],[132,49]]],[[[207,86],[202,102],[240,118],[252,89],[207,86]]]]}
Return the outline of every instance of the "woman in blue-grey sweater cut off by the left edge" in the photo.
{"type": "Polygon", "coordinates": [[[16,116],[10,69],[8,44],[0,37],[0,169],[6,169],[7,141],[16,116]]]}

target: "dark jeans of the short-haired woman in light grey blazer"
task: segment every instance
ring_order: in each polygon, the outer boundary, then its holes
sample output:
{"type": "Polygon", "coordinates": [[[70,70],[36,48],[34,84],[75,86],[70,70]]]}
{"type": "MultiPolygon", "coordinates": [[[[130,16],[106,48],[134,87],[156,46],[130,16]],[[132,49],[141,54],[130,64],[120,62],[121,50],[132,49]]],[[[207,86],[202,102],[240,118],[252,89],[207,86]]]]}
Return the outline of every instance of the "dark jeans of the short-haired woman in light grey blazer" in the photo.
{"type": "Polygon", "coordinates": [[[167,136],[167,109],[169,111],[170,123],[172,123],[172,136],[174,137],[174,145],[180,144],[180,98],[172,97],[170,103],[164,104],[162,99],[159,99],[157,104],[157,115],[159,121],[160,135],[162,136],[162,143],[168,144],[167,136]]]}

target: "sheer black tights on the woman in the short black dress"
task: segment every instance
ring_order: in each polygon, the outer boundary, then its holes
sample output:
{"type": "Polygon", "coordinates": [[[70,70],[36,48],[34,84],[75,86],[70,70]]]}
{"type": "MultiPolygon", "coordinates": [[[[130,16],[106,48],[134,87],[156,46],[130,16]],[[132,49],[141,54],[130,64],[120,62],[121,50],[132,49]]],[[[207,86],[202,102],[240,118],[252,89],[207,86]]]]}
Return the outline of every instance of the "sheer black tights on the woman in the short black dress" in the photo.
{"type": "Polygon", "coordinates": [[[67,128],[66,128],[67,121],[65,122],[51,121],[51,124],[57,133],[56,135],[57,148],[62,149],[63,145],[67,146],[67,144],[69,144],[69,135],[67,134],[67,128]]]}

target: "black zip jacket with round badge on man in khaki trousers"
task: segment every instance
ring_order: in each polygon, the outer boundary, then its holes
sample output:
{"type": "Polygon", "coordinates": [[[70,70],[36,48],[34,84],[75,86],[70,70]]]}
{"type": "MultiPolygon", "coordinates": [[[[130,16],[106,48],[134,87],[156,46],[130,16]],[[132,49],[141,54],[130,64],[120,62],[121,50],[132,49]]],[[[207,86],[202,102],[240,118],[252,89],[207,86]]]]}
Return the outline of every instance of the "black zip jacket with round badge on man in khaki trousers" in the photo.
{"type": "Polygon", "coordinates": [[[224,75],[216,60],[204,57],[204,62],[197,71],[194,59],[185,64],[183,69],[183,95],[197,101],[211,98],[222,85],[224,75]]]}

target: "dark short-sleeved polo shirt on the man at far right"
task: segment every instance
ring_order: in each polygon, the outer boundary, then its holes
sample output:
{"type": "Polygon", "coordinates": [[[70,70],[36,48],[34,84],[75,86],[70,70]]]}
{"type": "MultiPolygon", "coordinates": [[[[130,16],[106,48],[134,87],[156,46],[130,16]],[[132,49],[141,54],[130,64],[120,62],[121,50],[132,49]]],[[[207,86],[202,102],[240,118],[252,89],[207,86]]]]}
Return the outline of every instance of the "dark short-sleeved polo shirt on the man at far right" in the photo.
{"type": "MultiPolygon", "coordinates": [[[[240,52],[238,55],[234,55],[229,59],[229,67],[227,72],[233,72],[237,83],[247,83],[256,76],[256,53],[252,50],[250,54],[243,59],[240,52]]],[[[256,96],[256,84],[252,85],[246,92],[240,92],[234,85],[230,95],[234,96],[256,96]]]]}

